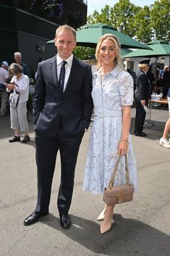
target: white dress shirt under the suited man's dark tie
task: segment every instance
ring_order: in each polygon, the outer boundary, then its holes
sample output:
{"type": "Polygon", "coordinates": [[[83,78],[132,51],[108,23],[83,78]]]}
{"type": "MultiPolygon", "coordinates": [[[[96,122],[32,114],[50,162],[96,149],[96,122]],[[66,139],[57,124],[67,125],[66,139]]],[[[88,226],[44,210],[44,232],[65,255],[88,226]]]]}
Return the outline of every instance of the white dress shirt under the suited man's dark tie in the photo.
{"type": "MultiPolygon", "coordinates": [[[[65,65],[64,91],[65,91],[65,88],[66,88],[66,85],[67,85],[67,82],[68,82],[68,79],[69,79],[69,73],[70,73],[71,67],[72,67],[72,59],[73,59],[73,54],[68,59],[65,59],[67,64],[65,65]]],[[[59,74],[60,74],[61,65],[62,65],[61,62],[63,62],[63,59],[61,59],[59,57],[59,54],[56,54],[56,64],[57,64],[57,77],[58,77],[58,80],[59,80],[59,74]]]]}

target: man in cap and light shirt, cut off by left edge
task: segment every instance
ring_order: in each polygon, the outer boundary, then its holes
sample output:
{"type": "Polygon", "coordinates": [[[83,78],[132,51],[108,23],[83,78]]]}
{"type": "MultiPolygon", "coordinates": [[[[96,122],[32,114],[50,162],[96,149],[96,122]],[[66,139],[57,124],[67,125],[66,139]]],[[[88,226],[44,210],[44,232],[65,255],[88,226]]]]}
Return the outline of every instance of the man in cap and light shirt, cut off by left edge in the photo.
{"type": "MultiPolygon", "coordinates": [[[[0,67],[0,83],[7,83],[8,79],[8,62],[1,62],[0,67]]],[[[7,115],[7,103],[8,103],[8,93],[6,87],[4,91],[1,91],[1,116],[7,115]]]]}

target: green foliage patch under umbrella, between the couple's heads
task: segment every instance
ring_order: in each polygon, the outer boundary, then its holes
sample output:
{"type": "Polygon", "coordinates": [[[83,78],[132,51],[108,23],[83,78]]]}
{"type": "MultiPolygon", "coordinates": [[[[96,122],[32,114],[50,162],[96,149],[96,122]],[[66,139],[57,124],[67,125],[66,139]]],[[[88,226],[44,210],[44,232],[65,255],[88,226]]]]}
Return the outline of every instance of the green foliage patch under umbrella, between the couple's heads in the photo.
{"type": "Polygon", "coordinates": [[[89,59],[89,57],[95,54],[95,49],[84,46],[76,46],[74,54],[79,59],[89,59]]]}

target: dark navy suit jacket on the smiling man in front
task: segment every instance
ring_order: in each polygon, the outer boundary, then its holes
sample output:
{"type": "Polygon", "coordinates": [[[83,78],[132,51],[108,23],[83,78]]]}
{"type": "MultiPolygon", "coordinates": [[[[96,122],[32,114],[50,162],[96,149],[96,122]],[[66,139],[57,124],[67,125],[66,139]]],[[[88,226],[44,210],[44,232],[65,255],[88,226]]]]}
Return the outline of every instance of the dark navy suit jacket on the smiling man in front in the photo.
{"type": "Polygon", "coordinates": [[[59,125],[69,136],[77,136],[90,125],[93,110],[91,66],[73,57],[64,93],[60,91],[56,56],[38,65],[33,99],[37,136],[53,138],[59,125]]]}

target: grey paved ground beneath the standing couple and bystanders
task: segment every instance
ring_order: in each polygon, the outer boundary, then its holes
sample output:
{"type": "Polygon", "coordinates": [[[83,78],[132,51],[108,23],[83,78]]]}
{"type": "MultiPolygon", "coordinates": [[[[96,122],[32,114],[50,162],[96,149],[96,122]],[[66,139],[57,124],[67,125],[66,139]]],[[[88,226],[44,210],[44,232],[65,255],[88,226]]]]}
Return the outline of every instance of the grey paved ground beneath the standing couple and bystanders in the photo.
{"type": "MultiPolygon", "coordinates": [[[[132,133],[134,125],[132,110],[132,133]]],[[[70,215],[72,228],[59,226],[56,194],[59,188],[59,159],[51,194],[50,214],[33,226],[22,222],[35,207],[35,144],[30,117],[28,144],[9,144],[13,135],[9,116],[0,117],[0,255],[1,256],[168,256],[170,255],[170,149],[158,144],[169,116],[166,110],[152,110],[154,127],[148,136],[132,135],[137,159],[139,193],[132,202],[115,209],[114,226],[99,234],[101,195],[81,191],[89,133],[80,148],[75,190],[70,215]]]]}

